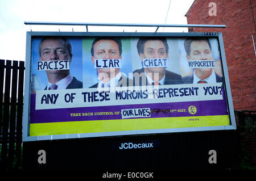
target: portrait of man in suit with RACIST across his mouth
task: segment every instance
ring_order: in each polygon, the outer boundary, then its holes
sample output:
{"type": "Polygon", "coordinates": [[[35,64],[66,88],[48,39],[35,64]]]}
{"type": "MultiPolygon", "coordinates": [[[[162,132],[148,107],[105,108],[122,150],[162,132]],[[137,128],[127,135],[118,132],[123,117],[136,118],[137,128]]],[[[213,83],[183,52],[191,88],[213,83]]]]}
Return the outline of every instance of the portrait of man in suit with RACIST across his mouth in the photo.
{"type": "MultiPolygon", "coordinates": [[[[72,61],[72,45],[66,37],[44,37],[38,46],[40,61],[72,61]]],[[[44,90],[80,89],[82,82],[68,70],[46,70],[48,83],[44,90]]]]}

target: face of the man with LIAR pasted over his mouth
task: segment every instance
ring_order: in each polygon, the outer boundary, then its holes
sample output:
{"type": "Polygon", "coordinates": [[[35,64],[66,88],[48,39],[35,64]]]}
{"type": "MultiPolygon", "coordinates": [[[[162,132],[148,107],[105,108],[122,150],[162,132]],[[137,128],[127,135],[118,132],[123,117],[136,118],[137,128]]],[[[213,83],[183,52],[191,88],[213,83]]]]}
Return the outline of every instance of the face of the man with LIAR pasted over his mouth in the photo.
{"type": "MultiPolygon", "coordinates": [[[[94,59],[121,59],[119,54],[118,44],[114,40],[100,40],[94,44],[94,57],[92,57],[92,62],[94,64],[94,59]]],[[[117,71],[119,69],[115,68],[103,68],[97,69],[98,73],[110,73],[117,71]]]]}

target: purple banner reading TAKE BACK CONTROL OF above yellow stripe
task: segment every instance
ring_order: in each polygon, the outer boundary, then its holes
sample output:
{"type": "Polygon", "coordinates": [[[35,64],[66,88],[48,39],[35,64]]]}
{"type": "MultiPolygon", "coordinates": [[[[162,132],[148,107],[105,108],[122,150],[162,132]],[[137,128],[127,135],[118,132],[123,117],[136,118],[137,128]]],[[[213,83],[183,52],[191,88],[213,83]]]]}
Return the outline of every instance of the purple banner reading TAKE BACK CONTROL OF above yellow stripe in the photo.
{"type": "Polygon", "coordinates": [[[35,110],[35,94],[31,94],[30,123],[115,120],[122,119],[121,110],[138,108],[150,108],[150,117],[228,115],[225,95],[223,98],[223,100],[205,100],[197,102],[132,104],[122,106],[104,106],[104,104],[102,104],[100,107],[35,110]],[[194,108],[194,110],[192,111],[191,108],[194,108]]]}

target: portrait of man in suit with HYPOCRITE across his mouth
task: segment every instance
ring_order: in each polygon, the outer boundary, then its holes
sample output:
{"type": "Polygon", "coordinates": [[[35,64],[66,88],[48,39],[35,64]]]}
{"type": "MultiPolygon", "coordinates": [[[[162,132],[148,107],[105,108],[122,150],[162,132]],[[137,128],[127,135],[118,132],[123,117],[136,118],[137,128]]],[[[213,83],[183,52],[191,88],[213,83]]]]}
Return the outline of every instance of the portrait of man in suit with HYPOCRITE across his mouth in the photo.
{"type": "MultiPolygon", "coordinates": [[[[189,37],[184,41],[187,60],[214,60],[212,46],[208,38],[189,37]]],[[[194,68],[193,74],[182,78],[183,83],[216,83],[222,77],[213,68],[194,68]]]]}

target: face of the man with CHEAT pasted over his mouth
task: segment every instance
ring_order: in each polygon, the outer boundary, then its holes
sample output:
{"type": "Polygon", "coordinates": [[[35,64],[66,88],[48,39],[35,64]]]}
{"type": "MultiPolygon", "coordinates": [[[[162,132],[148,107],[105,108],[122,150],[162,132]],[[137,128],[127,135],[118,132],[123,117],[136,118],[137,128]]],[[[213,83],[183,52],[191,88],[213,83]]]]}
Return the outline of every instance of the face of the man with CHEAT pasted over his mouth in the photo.
{"type": "MultiPolygon", "coordinates": [[[[168,53],[166,53],[166,47],[163,41],[160,40],[148,40],[144,44],[144,53],[140,53],[141,61],[143,59],[149,58],[168,58],[168,53]]],[[[166,68],[144,68],[151,73],[160,73],[166,70],[166,68]]]]}

